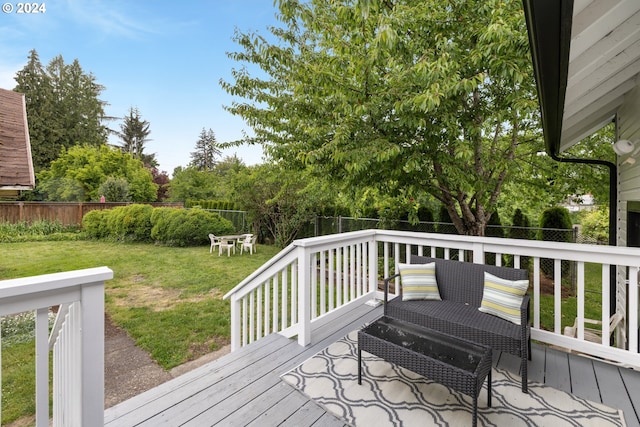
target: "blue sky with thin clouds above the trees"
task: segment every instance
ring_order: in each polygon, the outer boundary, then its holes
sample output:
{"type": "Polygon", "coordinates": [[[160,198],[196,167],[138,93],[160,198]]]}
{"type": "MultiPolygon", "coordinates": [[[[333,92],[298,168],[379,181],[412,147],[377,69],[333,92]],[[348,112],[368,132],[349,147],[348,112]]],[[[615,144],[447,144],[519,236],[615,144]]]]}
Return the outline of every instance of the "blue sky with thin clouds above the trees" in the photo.
{"type": "MultiPolygon", "coordinates": [[[[3,0],[3,3],[4,0],[3,0]]],[[[277,25],[272,0],[50,0],[43,14],[0,13],[0,87],[13,89],[15,73],[36,49],[43,65],[56,55],[80,61],[105,86],[109,116],[137,107],[150,123],[145,151],[169,174],[186,166],[202,128],[218,142],[240,139],[250,128],[222,108],[232,98],[219,84],[241,64],[234,30],[267,35],[277,25]]],[[[119,123],[119,122],[118,122],[119,123]]],[[[117,124],[112,123],[111,126],[117,124]]],[[[117,140],[114,140],[114,142],[117,140]]],[[[259,146],[225,150],[248,165],[262,162],[259,146]]]]}

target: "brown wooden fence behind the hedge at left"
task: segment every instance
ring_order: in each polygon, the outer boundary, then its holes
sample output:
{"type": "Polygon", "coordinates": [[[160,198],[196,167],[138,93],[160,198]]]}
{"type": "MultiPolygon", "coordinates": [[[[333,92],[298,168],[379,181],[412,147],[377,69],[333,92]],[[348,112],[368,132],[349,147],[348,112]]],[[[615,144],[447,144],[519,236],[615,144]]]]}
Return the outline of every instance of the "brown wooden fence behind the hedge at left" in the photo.
{"type": "MultiPolygon", "coordinates": [[[[96,209],[111,209],[132,203],[99,202],[0,202],[0,222],[12,224],[58,221],[63,225],[81,225],[82,217],[96,209]]],[[[154,207],[184,207],[182,203],[145,203],[154,207]]]]}

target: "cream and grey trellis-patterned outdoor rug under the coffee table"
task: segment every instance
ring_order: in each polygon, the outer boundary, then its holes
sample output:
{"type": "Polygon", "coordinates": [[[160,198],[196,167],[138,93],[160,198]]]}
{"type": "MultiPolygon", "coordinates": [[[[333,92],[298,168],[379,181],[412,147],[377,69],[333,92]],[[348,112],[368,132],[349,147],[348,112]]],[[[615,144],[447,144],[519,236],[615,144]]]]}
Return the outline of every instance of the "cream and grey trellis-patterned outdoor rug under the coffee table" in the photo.
{"type": "MultiPolygon", "coordinates": [[[[404,368],[362,353],[358,385],[357,332],[282,375],[282,379],[353,426],[470,426],[472,399],[404,368]]],[[[520,378],[493,370],[492,407],[486,382],[479,426],[625,426],[622,411],[541,384],[520,391],[520,378]]]]}

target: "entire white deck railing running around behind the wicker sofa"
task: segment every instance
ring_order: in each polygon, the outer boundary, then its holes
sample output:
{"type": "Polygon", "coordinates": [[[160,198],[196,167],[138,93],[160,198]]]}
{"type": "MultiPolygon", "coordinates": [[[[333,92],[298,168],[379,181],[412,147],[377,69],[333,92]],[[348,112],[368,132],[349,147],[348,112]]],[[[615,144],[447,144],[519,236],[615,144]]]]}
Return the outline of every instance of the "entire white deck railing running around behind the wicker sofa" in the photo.
{"type": "MultiPolygon", "coordinates": [[[[532,240],[364,230],[293,242],[270,262],[231,290],[232,349],[272,332],[298,335],[298,342],[311,342],[312,326],[348,310],[351,304],[380,299],[378,283],[396,272],[399,262],[411,254],[502,264],[503,256],[519,268],[528,260],[532,283],[532,338],[593,356],[640,367],[638,355],[638,270],[640,249],[532,240]],[[541,328],[541,260],[552,260],[553,325],[541,328]],[[561,282],[566,279],[563,261],[575,266],[575,297],[578,338],[562,334],[561,282]],[[601,281],[602,342],[584,340],[585,264],[599,266],[601,281]],[[617,292],[611,294],[611,271],[617,292]],[[610,302],[623,314],[616,348],[609,342],[610,302]],[[626,337],[628,336],[628,342],[626,337]]],[[[547,261],[545,261],[547,262],[547,261]]],[[[571,318],[573,323],[573,318],[571,318]]]]}

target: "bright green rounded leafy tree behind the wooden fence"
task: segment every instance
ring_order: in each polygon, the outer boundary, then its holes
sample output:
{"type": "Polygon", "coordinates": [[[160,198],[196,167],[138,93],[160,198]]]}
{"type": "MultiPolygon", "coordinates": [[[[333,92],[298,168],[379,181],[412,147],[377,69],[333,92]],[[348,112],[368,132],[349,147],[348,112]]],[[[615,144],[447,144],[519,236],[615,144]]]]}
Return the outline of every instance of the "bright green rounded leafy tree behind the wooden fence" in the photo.
{"type": "Polygon", "coordinates": [[[158,188],[149,170],[130,154],[107,145],[63,149],[51,167],[38,174],[37,190],[52,201],[96,201],[100,186],[118,178],[128,184],[129,200],[156,201],[158,188]]]}

